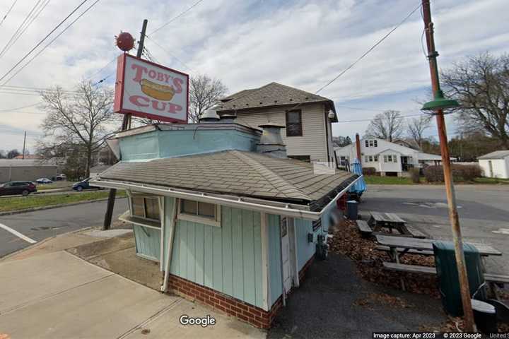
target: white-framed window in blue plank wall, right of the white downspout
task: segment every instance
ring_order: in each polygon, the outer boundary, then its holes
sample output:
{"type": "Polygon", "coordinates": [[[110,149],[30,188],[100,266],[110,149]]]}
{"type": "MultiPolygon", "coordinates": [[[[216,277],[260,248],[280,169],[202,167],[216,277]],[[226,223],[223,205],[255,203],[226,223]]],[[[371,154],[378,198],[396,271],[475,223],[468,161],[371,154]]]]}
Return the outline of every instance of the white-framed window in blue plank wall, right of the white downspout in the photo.
{"type": "Polygon", "coordinates": [[[221,206],[179,199],[178,219],[221,227],[221,206]]]}

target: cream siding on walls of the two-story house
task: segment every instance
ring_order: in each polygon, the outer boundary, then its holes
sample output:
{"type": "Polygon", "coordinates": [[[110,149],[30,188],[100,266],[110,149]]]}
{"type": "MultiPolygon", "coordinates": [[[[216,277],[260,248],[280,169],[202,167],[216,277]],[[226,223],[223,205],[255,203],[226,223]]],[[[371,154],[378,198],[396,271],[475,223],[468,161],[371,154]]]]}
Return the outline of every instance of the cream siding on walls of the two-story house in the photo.
{"type": "MultiPolygon", "coordinates": [[[[275,107],[259,109],[249,113],[237,112],[235,122],[259,129],[258,125],[268,121],[286,125],[286,109],[292,107],[275,107]]],[[[327,161],[327,141],[325,138],[324,106],[323,104],[301,105],[303,136],[286,136],[286,130],[281,131],[283,142],[286,144],[288,155],[310,155],[311,160],[327,161]]],[[[332,140],[329,132],[329,139],[332,140]]],[[[331,152],[332,155],[332,152],[331,152]]]]}

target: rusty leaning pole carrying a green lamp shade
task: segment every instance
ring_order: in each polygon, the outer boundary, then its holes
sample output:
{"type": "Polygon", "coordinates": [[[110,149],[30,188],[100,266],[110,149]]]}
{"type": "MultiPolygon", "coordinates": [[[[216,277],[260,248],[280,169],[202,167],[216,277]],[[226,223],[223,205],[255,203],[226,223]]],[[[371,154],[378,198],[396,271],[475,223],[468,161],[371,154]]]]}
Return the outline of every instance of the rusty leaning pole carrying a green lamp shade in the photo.
{"type": "MultiPolygon", "coordinates": [[[[435,40],[433,37],[433,22],[431,21],[431,8],[429,0],[422,0],[424,28],[426,30],[426,44],[428,47],[428,61],[431,73],[431,84],[433,94],[436,100],[443,100],[443,93],[440,90],[438,78],[438,52],[435,50],[435,40]]],[[[456,103],[457,105],[457,103],[456,103]]],[[[472,311],[472,302],[470,297],[469,281],[467,277],[467,268],[465,266],[463,253],[463,239],[460,228],[460,218],[457,213],[456,196],[454,184],[452,183],[452,171],[450,163],[449,146],[447,145],[447,133],[445,130],[445,119],[443,109],[435,110],[435,117],[438,127],[438,136],[440,138],[440,151],[442,153],[442,164],[444,172],[445,190],[447,192],[447,205],[449,206],[449,219],[452,228],[452,237],[455,245],[456,266],[458,277],[460,279],[460,291],[463,305],[465,331],[476,331],[474,323],[474,313],[472,311]]]]}

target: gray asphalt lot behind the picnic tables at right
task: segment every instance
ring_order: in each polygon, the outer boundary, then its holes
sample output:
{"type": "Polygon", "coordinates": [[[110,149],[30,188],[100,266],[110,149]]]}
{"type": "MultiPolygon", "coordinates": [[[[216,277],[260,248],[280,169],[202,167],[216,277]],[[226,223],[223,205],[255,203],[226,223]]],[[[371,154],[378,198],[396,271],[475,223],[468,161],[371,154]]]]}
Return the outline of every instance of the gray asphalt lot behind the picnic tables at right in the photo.
{"type": "MultiPolygon", "coordinates": [[[[456,196],[464,240],[501,251],[487,270],[509,274],[509,186],[457,185],[456,196]]],[[[359,210],[397,213],[434,239],[452,239],[443,186],[369,185],[359,210]]]]}

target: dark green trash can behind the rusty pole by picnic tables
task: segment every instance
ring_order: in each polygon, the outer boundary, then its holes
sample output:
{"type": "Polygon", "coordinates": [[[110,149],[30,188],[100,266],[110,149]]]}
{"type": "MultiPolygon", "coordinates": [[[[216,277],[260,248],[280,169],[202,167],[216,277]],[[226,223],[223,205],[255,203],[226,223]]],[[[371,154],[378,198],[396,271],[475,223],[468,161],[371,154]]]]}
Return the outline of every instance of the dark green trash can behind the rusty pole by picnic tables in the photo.
{"type": "MultiPolygon", "coordinates": [[[[465,265],[470,287],[470,297],[484,283],[482,263],[479,251],[471,244],[463,244],[465,265]]],[[[438,290],[442,297],[442,304],[451,316],[462,316],[463,307],[460,292],[460,280],[456,267],[456,256],[454,243],[433,242],[433,253],[435,254],[435,265],[438,275],[438,290]]],[[[484,289],[479,290],[476,299],[486,300],[484,289]]]]}

